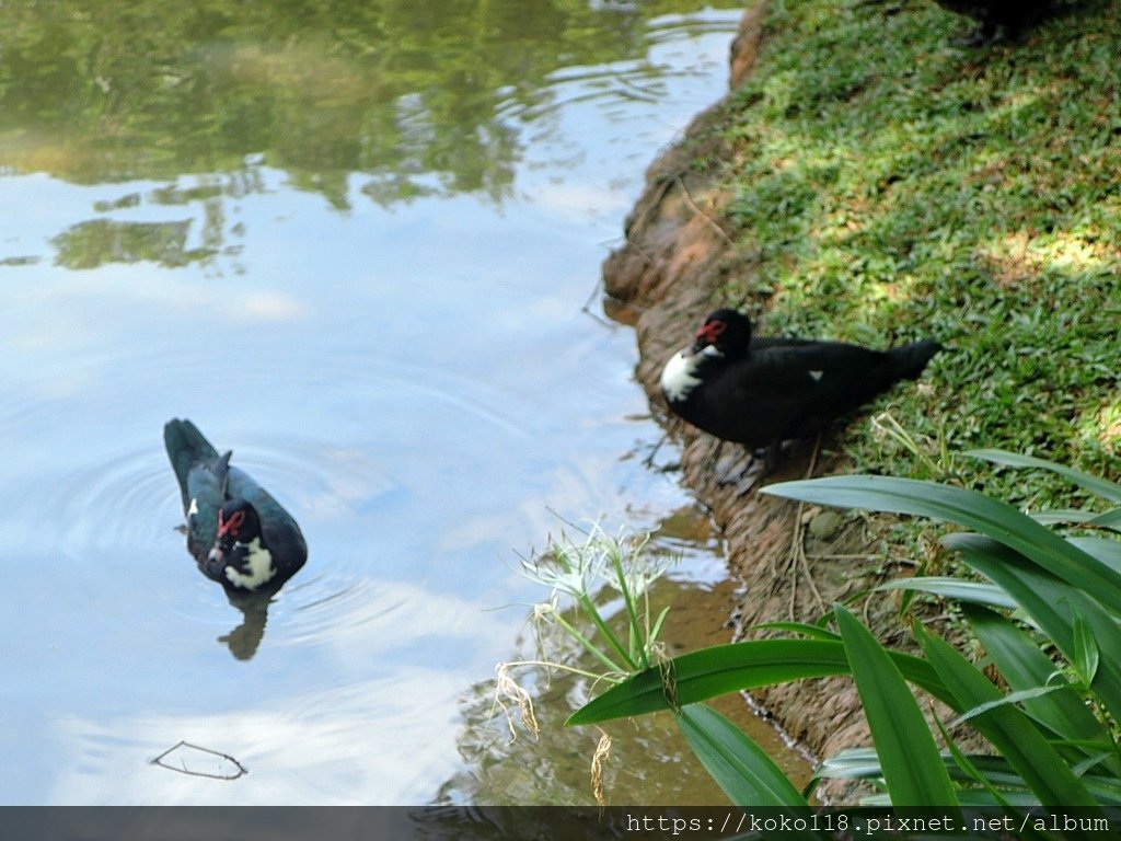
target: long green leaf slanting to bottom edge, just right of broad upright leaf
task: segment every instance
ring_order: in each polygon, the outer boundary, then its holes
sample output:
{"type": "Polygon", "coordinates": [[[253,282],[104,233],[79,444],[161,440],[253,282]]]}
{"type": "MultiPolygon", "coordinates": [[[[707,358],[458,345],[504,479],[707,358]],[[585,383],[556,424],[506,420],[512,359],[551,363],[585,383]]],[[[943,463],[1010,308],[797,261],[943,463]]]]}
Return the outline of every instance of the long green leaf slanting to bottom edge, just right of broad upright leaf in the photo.
{"type": "MultiPolygon", "coordinates": [[[[1000,700],[1000,691],[952,645],[923,630],[918,631],[918,637],[927,659],[956,695],[958,705],[973,709],[1000,700]]],[[[1071,766],[1020,710],[1008,705],[992,706],[971,721],[997,747],[1043,805],[1097,805],[1071,766]]]]}

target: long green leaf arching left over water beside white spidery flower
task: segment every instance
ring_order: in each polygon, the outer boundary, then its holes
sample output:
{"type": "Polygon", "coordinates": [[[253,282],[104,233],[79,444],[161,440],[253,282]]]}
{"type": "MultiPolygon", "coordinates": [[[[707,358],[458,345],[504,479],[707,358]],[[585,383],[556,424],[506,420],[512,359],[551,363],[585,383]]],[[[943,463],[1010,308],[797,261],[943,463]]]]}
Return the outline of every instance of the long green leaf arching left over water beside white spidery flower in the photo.
{"type": "MultiPolygon", "coordinates": [[[[953,703],[928,663],[901,651],[891,651],[890,656],[909,682],[953,703]]],[[[660,668],[639,672],[586,703],[566,723],[592,724],[642,715],[729,692],[849,673],[849,658],[840,640],[756,639],[713,646],[683,654],[660,668]]]]}

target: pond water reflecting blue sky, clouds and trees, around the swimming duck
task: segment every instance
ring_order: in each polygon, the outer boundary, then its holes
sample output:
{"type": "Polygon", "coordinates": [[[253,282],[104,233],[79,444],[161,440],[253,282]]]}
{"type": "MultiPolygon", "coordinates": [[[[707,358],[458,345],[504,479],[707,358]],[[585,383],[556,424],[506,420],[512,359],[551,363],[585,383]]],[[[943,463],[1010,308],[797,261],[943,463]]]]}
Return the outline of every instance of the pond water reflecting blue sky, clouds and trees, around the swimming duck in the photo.
{"type": "MultiPolygon", "coordinates": [[[[500,800],[476,731],[545,595],[518,555],[688,506],[640,458],[631,331],[592,313],[739,10],[94,7],[0,34],[0,802],[500,800]],[[267,613],[186,553],[177,416],[303,527],[267,613]],[[249,773],[150,764],[179,741],[249,773]]],[[[712,591],[713,542],[666,539],[667,598],[712,591]]]]}

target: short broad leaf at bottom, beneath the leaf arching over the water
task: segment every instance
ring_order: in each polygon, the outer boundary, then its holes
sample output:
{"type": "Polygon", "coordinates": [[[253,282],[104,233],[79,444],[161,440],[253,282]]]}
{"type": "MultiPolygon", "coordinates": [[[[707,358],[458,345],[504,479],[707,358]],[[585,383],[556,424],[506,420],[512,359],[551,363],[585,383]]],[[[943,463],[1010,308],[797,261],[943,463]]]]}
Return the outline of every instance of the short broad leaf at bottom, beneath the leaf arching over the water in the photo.
{"type": "Polygon", "coordinates": [[[677,724],[705,770],[735,805],[807,805],[766,751],[715,710],[689,704],[682,708],[677,724]]]}

